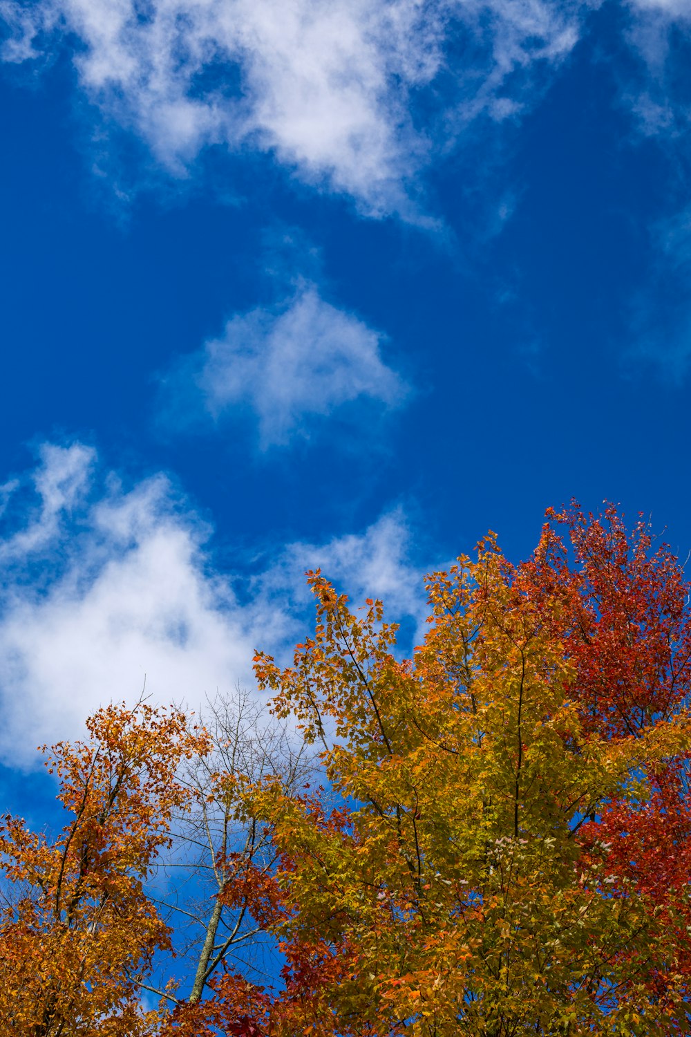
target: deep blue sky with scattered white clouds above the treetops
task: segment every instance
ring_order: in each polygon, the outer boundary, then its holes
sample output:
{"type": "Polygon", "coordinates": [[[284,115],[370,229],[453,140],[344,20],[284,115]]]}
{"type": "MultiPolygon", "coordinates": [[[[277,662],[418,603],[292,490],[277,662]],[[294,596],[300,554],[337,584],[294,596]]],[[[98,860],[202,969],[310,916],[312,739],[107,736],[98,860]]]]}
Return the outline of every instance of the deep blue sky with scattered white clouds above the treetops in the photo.
{"type": "Polygon", "coordinates": [[[686,558],[689,0],[0,18],[10,801],[145,674],[251,685],[309,567],[409,646],[425,570],[571,497],[686,558]]]}

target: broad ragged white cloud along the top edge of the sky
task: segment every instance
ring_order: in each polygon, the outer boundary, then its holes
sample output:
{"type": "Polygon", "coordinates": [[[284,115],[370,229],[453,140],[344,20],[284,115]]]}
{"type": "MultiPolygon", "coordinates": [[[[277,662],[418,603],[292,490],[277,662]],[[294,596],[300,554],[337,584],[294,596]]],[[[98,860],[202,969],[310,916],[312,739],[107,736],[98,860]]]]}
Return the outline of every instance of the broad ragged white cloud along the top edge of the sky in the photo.
{"type": "Polygon", "coordinates": [[[519,111],[529,71],[570,52],[592,5],[0,0],[0,15],[5,60],[77,40],[89,99],[173,172],[210,144],[251,147],[371,215],[412,219],[407,188],[434,149],[483,112],[519,111]],[[414,116],[419,96],[427,129],[414,116]]]}

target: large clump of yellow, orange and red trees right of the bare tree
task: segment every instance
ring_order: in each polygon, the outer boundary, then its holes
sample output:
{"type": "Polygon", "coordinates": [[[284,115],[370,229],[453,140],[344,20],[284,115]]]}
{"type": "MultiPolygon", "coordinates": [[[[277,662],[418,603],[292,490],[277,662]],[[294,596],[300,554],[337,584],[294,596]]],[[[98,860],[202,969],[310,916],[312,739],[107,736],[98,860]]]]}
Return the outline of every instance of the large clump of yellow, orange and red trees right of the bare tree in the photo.
{"type": "Polygon", "coordinates": [[[691,1029],[688,588],[644,524],[549,517],[522,565],[490,536],[432,574],[411,661],[318,572],[294,665],[258,655],[327,776],[243,793],[279,858],[268,1033],[691,1029]]]}

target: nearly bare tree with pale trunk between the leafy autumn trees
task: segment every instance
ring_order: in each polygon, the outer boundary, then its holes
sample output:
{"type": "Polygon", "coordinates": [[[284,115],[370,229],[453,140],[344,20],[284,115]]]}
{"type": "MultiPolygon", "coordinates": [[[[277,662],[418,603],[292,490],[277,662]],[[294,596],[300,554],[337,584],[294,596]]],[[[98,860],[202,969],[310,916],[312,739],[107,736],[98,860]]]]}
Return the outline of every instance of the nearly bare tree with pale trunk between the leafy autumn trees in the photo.
{"type": "Polygon", "coordinates": [[[258,984],[277,972],[276,940],[257,917],[258,886],[270,881],[276,854],[258,819],[251,812],[237,816],[231,786],[270,776],[292,794],[314,770],[314,754],[306,752],[305,742],[271,717],[265,703],[239,688],[208,700],[199,723],[210,749],[190,759],[180,775],[190,801],[176,818],[170,852],[161,861],[167,881],[156,899],[173,929],[175,971],[182,978],[174,988],[166,985],[172,962],[164,955],[146,984],[173,1009],[168,1024],[195,1037],[214,1013],[217,1019],[222,1013],[225,1031],[234,1033],[250,1004],[257,1014],[258,984]],[[219,984],[223,999],[217,997],[213,1007],[204,1004],[219,984]]]}

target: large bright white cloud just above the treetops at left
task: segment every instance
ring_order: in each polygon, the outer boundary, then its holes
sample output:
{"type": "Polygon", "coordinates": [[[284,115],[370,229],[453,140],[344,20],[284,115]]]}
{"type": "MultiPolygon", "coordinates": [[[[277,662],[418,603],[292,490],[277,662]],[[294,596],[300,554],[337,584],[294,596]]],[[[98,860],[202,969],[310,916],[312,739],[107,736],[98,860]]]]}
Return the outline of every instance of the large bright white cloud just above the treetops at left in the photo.
{"type": "Polygon", "coordinates": [[[304,635],[304,571],[320,563],[355,597],[381,593],[393,618],[420,621],[401,512],[359,536],[279,550],[241,593],[213,570],[209,529],[163,475],[125,491],[92,450],[48,446],[15,493],[8,511],[23,528],[0,556],[0,758],[15,765],[32,765],[41,741],[79,736],[97,705],[135,700],[145,675],[154,701],[192,706],[252,686],[254,649],[281,656],[304,635]]]}

